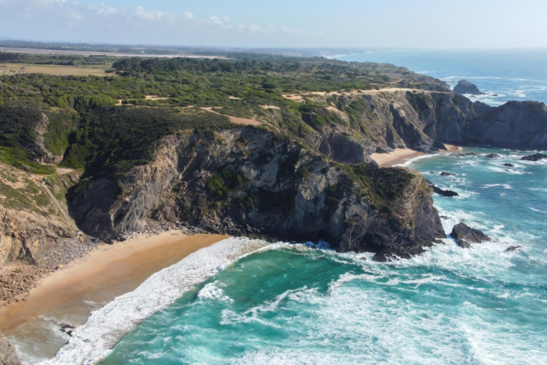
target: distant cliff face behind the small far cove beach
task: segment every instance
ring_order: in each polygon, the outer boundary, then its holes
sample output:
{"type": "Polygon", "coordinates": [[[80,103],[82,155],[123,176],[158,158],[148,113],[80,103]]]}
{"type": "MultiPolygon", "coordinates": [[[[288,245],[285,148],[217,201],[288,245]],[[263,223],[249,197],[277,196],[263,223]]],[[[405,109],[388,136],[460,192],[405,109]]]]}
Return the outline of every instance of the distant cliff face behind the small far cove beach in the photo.
{"type": "MultiPolygon", "coordinates": [[[[386,148],[435,153],[444,149],[442,143],[547,149],[547,107],[534,101],[510,101],[494,108],[437,91],[382,91],[313,99],[321,103],[324,113],[342,115],[319,132],[323,140],[338,142],[330,142],[329,147],[335,146],[330,150],[356,150],[357,156],[361,151],[366,154],[386,148]],[[349,144],[360,147],[348,148],[349,144]]],[[[328,155],[338,162],[348,160],[338,157],[343,153],[328,155]]],[[[360,163],[368,162],[366,157],[359,159],[360,163]]]]}

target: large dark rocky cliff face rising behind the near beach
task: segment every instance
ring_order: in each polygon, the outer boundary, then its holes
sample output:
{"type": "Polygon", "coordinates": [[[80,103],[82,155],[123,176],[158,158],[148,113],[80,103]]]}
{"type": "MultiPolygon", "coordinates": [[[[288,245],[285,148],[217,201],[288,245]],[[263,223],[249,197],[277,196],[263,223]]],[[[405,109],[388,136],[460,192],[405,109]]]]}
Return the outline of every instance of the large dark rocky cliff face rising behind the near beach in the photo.
{"type": "Polygon", "coordinates": [[[118,183],[73,192],[90,235],[141,230],[147,217],[209,232],[326,240],[342,252],[420,252],[445,237],[432,191],[407,169],[342,166],[288,138],[244,128],[164,138],[157,158],[118,183]]]}

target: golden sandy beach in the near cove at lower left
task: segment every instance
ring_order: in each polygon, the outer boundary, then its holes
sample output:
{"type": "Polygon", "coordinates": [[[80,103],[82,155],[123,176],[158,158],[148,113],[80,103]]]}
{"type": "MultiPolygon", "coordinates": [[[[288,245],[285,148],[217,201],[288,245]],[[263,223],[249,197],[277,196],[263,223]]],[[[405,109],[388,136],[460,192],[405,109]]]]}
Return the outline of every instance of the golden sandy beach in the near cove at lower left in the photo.
{"type": "MultiPolygon", "coordinates": [[[[224,240],[224,235],[187,236],[174,230],[137,236],[115,245],[101,245],[81,259],[45,277],[24,301],[0,308],[0,331],[43,322],[48,317],[73,325],[85,323],[90,307],[98,309],[115,297],[131,292],[155,272],[188,255],[224,240]]],[[[38,333],[36,333],[38,335],[38,333]]]]}

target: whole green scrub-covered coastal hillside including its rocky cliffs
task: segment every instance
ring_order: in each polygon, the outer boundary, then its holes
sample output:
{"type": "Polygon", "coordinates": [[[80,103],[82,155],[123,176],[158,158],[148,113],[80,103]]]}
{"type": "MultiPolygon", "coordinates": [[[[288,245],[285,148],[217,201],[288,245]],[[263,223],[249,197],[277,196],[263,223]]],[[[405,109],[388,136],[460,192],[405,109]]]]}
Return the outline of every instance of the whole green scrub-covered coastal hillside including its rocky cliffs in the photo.
{"type": "MultiPolygon", "coordinates": [[[[34,61],[78,61],[50,57],[34,61]]],[[[541,103],[472,103],[387,64],[226,58],[123,58],[105,77],[0,76],[1,174],[11,181],[0,192],[0,264],[42,266],[70,247],[83,254],[92,238],[174,225],[410,257],[444,237],[432,190],[411,170],[377,168],[372,153],[547,148],[541,103]],[[41,190],[46,176],[82,235],[41,190]]]]}

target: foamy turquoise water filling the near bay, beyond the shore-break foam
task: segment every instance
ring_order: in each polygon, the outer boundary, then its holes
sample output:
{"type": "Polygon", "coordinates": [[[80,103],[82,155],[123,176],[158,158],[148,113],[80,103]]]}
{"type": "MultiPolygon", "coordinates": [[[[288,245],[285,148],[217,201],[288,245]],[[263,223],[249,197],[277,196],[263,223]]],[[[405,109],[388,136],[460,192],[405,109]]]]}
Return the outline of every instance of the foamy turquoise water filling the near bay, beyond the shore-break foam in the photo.
{"type": "Polygon", "coordinates": [[[152,314],[102,364],[547,363],[547,163],[466,151],[479,155],[410,167],[460,193],[435,197],[447,232],[465,220],[494,242],[389,264],[276,246],[152,314]]]}

